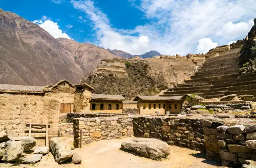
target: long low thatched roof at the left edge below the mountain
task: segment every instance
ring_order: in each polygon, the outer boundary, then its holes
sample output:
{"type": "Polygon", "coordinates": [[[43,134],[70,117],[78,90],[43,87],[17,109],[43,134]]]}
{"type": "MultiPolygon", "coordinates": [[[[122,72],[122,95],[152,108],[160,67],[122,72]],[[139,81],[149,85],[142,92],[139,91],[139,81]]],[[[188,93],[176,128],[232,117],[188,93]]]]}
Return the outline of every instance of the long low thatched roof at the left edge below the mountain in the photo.
{"type": "Polygon", "coordinates": [[[44,93],[44,87],[0,84],[1,92],[44,93]]]}

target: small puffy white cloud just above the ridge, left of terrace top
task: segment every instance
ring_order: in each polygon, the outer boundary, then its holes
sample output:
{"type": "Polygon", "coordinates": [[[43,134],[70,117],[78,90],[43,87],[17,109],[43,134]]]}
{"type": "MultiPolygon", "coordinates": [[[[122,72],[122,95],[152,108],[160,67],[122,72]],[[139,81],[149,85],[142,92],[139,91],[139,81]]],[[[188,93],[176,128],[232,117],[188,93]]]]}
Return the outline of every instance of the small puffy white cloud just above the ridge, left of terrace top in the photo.
{"type": "Polygon", "coordinates": [[[218,43],[214,43],[210,38],[203,38],[199,40],[199,44],[197,46],[197,53],[206,53],[210,49],[218,46],[218,43]]]}

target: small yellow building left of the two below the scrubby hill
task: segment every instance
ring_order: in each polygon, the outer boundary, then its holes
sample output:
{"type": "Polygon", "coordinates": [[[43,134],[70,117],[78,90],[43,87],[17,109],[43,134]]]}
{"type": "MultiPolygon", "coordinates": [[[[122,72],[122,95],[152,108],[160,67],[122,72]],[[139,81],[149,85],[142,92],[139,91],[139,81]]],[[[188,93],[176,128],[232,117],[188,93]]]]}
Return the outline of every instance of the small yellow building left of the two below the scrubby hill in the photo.
{"type": "Polygon", "coordinates": [[[125,98],[121,95],[92,94],[90,110],[92,112],[122,113],[125,98]]]}

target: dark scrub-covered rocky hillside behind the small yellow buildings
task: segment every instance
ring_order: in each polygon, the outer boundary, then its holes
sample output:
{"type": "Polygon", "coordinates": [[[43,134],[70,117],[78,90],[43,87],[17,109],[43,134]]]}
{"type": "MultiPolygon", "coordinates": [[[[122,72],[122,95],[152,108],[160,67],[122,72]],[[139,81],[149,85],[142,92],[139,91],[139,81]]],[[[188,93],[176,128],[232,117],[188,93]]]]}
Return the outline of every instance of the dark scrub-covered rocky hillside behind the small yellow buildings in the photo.
{"type": "Polygon", "coordinates": [[[150,67],[144,61],[125,62],[127,76],[115,74],[90,75],[81,82],[95,88],[96,94],[123,95],[126,99],[137,95],[153,96],[167,89],[163,75],[150,75],[150,67]]]}

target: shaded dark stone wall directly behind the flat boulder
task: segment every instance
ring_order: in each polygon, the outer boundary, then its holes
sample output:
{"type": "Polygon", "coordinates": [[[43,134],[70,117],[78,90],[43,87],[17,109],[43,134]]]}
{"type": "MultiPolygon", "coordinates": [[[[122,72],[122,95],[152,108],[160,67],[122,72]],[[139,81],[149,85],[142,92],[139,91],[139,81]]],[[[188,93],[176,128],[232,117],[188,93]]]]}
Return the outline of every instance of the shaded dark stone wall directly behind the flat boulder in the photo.
{"type": "Polygon", "coordinates": [[[158,138],[169,145],[204,151],[203,120],[187,118],[137,117],[134,136],[158,138]]]}

